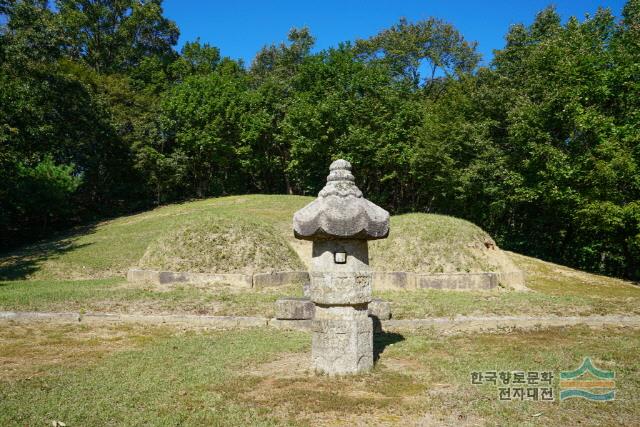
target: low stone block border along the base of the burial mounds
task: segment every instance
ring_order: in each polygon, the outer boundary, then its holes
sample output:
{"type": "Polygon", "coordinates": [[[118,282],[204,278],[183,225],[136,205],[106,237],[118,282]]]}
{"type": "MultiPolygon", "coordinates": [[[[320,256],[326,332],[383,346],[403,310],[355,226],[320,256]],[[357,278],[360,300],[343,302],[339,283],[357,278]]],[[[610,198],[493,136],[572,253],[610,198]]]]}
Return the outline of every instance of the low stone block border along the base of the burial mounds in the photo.
{"type": "MultiPolygon", "coordinates": [[[[225,283],[239,288],[265,288],[288,284],[309,283],[306,271],[279,271],[253,274],[208,274],[177,273],[131,269],[127,272],[130,282],[151,282],[159,285],[170,283],[225,283]]],[[[524,274],[521,271],[509,273],[437,273],[421,274],[406,271],[379,271],[373,274],[376,290],[399,289],[447,289],[447,290],[489,290],[503,283],[510,287],[524,288],[524,274]]]]}

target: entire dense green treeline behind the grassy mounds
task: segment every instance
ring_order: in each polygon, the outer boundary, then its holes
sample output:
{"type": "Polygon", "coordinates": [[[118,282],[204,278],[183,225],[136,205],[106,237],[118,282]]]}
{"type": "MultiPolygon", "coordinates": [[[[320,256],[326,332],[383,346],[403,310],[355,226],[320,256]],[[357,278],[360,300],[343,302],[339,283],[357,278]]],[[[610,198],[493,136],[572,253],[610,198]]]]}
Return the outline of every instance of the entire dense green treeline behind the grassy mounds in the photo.
{"type": "Polygon", "coordinates": [[[479,67],[438,19],[246,67],[174,46],[161,0],[0,0],[0,246],[154,204],[314,194],[349,159],[394,212],[472,220],[506,248],[640,278],[640,1],[509,28],[479,67]]]}

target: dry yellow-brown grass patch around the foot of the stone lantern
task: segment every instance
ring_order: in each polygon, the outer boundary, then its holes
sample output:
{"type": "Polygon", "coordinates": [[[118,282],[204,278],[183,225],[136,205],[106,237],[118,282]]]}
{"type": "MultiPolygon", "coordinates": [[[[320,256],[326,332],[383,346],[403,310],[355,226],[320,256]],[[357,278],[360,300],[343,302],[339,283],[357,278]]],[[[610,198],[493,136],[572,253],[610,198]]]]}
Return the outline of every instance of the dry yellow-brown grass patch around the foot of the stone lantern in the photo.
{"type": "Polygon", "coordinates": [[[415,420],[428,398],[416,378],[384,364],[368,375],[331,378],[314,375],[308,359],[307,353],[287,355],[253,368],[228,396],[252,407],[277,408],[279,418],[311,425],[415,420]]]}

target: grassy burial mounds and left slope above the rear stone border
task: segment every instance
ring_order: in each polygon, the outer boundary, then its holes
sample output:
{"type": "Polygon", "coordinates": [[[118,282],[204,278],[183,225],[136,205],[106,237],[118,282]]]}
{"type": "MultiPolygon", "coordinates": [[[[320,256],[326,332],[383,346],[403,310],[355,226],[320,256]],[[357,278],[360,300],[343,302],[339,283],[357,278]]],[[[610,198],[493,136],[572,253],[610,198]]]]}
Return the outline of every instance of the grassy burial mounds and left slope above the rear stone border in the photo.
{"type": "MultiPolygon", "coordinates": [[[[313,198],[247,195],[163,206],[78,228],[0,255],[0,280],[122,277],[133,266],[201,272],[303,268],[310,244],[293,238],[293,213],[313,198]],[[300,255],[302,256],[300,256],[300,255]],[[302,258],[302,260],[301,260],[302,258]]],[[[511,261],[480,228],[457,218],[409,214],[371,245],[385,271],[500,271],[511,261]]]]}

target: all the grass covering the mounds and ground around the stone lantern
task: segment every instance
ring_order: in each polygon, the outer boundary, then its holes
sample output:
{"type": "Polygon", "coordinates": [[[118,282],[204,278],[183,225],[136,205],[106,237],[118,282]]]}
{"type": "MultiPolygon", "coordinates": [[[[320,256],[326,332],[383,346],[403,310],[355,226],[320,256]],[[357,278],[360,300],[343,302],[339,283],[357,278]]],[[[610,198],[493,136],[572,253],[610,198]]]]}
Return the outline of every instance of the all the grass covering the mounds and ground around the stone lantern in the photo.
{"type": "MultiPolygon", "coordinates": [[[[122,276],[134,265],[225,272],[300,268],[293,249],[304,243],[291,236],[290,221],[310,200],[238,196],[171,205],[23,248],[0,258],[0,310],[271,317],[275,300],[300,295],[300,286],[156,286],[126,283],[122,276]]],[[[391,300],[395,318],[640,314],[637,286],[502,253],[491,243],[482,230],[455,218],[393,217],[391,237],[371,246],[374,268],[500,271],[517,265],[531,292],[376,294],[391,300]]],[[[306,334],[266,328],[185,332],[4,323],[0,423],[636,425],[640,417],[638,330],[385,334],[377,337],[380,361],[371,374],[337,379],[308,372],[309,342],[306,334]],[[574,369],[585,356],[616,372],[615,402],[500,402],[494,387],[469,381],[478,370],[574,369]]]]}

